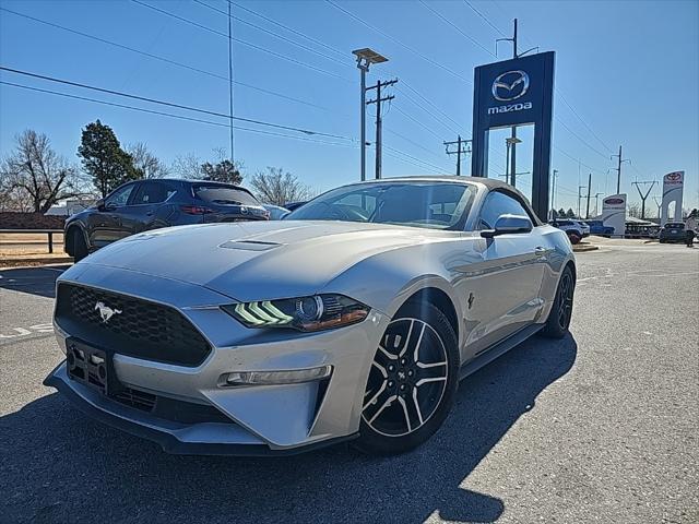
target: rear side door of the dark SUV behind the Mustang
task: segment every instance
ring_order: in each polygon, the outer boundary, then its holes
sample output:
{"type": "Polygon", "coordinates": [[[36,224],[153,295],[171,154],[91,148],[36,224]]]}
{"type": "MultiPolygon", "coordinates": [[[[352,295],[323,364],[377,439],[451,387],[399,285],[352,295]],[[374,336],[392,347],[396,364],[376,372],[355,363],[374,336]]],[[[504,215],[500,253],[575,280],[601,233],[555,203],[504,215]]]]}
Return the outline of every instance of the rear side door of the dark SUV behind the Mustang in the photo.
{"type": "MultiPolygon", "coordinates": [[[[175,192],[167,182],[145,180],[139,184],[129,205],[121,212],[125,236],[167,225],[167,199],[175,192]]],[[[168,207],[169,209],[169,207],[168,207]]]]}

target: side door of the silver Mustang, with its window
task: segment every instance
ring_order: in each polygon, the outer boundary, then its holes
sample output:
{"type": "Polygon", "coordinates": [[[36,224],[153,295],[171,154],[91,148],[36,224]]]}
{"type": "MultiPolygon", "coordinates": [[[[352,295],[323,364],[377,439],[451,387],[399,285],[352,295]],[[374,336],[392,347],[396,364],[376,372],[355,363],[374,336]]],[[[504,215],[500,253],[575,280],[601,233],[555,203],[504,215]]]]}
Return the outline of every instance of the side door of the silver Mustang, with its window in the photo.
{"type": "MultiPolygon", "coordinates": [[[[501,190],[486,196],[477,228],[494,229],[503,214],[535,218],[519,195],[501,190]]],[[[513,233],[493,238],[477,238],[481,252],[478,274],[470,278],[473,293],[469,312],[474,332],[470,334],[474,354],[531,324],[544,301],[541,287],[547,249],[542,246],[537,228],[532,233],[513,233]]]]}

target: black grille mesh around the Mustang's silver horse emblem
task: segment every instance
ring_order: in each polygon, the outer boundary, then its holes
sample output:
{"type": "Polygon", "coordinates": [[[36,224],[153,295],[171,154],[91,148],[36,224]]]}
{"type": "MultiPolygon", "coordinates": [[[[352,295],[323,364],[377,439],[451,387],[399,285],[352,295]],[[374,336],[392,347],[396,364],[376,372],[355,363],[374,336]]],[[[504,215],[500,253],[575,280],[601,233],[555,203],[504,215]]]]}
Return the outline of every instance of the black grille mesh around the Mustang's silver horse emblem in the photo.
{"type": "Polygon", "coordinates": [[[96,347],[182,366],[197,366],[211,352],[189,320],[167,306],[72,284],[60,284],[57,297],[58,323],[96,347]],[[97,302],[118,312],[105,322],[97,302]]]}

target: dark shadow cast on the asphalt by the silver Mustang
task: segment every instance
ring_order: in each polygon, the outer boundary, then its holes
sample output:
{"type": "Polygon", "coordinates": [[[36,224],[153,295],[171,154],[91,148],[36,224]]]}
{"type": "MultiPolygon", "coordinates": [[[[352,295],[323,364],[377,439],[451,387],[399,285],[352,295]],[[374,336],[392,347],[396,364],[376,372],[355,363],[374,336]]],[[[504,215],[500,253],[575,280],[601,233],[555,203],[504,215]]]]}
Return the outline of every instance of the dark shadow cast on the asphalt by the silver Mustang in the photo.
{"type": "Polygon", "coordinates": [[[49,394],[0,418],[0,521],[493,522],[506,501],[460,484],[576,356],[570,335],[521,344],[461,383],[429,442],[394,457],[167,455],[49,394]]]}

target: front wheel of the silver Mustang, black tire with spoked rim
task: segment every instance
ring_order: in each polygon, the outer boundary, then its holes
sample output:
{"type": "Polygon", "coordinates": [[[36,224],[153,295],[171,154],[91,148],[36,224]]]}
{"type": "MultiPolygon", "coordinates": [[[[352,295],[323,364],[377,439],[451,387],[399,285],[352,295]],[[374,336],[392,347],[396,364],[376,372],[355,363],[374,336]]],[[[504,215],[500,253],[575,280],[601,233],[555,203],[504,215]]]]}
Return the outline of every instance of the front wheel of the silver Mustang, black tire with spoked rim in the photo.
{"type": "Polygon", "coordinates": [[[442,425],[459,384],[459,344],[447,317],[419,301],[398,311],[381,343],[353,445],[387,455],[417,448],[442,425]]]}

